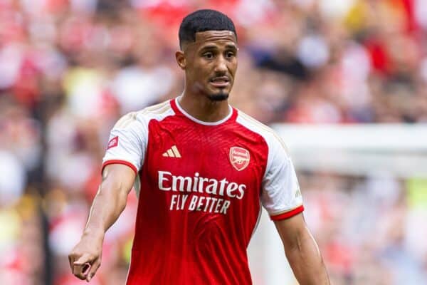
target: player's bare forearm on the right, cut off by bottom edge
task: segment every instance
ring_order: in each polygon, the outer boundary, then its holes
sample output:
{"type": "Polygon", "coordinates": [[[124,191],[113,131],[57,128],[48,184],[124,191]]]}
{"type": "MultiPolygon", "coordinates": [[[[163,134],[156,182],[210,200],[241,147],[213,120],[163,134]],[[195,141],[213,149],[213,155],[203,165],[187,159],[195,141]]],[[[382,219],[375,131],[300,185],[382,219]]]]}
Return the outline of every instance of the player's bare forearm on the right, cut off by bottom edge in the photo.
{"type": "Polygon", "coordinates": [[[330,284],[322,255],[310,232],[303,232],[286,257],[300,285],[330,284]]]}

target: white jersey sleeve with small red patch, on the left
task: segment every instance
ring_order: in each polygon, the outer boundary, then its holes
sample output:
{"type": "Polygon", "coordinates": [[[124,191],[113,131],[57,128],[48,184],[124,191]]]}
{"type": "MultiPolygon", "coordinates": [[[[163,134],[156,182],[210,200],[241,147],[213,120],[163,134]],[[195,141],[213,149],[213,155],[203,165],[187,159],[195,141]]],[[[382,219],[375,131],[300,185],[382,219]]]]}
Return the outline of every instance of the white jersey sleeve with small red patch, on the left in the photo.
{"type": "Polygon", "coordinates": [[[144,161],[147,149],[148,128],[136,113],[129,113],[117,121],[110,133],[107,151],[102,159],[102,170],[106,165],[127,165],[135,174],[144,161]]]}

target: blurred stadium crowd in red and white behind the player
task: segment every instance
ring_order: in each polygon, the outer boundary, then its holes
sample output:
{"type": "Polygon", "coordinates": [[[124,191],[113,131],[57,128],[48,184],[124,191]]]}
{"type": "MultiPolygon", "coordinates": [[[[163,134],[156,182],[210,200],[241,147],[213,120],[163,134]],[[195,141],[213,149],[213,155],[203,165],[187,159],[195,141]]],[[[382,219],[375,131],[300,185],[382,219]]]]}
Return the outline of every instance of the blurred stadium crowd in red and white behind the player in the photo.
{"type": "MultiPolygon", "coordinates": [[[[231,102],[263,123],[427,122],[427,1],[0,0],[0,284],[83,282],[67,254],[109,130],[180,94],[178,26],[206,7],[236,23],[231,102]]],[[[427,284],[426,180],[298,175],[334,284],[427,284]]],[[[123,284],[136,207],[91,283],[123,284]]]]}

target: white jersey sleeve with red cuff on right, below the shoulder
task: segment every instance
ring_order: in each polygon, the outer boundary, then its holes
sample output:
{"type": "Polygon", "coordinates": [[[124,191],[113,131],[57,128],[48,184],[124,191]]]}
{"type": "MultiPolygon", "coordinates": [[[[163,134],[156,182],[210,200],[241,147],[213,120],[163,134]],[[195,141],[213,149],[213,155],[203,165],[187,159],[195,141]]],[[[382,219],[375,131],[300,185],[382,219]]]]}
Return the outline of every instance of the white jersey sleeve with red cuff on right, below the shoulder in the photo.
{"type": "Polygon", "coordinates": [[[272,134],[267,144],[261,202],[271,219],[287,219],[304,210],[300,185],[283,140],[272,134]]]}

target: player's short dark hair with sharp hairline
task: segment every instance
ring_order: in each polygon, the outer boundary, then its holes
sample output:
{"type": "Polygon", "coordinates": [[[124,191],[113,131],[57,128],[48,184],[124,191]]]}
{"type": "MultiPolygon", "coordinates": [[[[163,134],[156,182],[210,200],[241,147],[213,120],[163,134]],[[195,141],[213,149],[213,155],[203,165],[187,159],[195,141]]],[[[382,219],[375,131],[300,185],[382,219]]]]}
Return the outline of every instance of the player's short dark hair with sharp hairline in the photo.
{"type": "Polygon", "coordinates": [[[179,47],[183,43],[196,41],[201,31],[232,31],[237,38],[236,28],[226,14],[211,9],[197,10],[187,15],[179,26],[179,47]]]}

